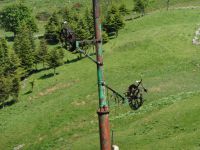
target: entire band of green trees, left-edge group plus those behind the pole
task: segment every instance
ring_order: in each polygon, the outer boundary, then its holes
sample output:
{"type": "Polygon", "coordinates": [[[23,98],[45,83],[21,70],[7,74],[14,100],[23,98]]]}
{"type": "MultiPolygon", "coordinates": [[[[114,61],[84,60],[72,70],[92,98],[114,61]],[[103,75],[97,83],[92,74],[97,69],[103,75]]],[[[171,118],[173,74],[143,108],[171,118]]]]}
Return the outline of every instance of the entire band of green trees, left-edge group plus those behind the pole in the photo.
{"type": "MultiPolygon", "coordinates": [[[[38,64],[41,63],[43,68],[53,68],[55,74],[56,67],[64,63],[62,47],[57,46],[51,50],[48,48],[48,44],[59,43],[61,22],[67,22],[78,40],[94,38],[92,10],[87,8],[84,15],[80,15],[79,11],[62,8],[54,12],[45,25],[44,38],[40,39],[39,46],[36,46],[34,38],[38,27],[27,6],[23,3],[14,4],[0,12],[0,27],[14,33],[12,48],[5,38],[0,38],[0,105],[18,100],[20,80],[36,71],[38,64]]],[[[109,37],[117,36],[125,25],[123,16],[128,13],[124,4],[119,7],[112,5],[106,15],[101,16],[104,43],[109,41],[109,37]]]]}

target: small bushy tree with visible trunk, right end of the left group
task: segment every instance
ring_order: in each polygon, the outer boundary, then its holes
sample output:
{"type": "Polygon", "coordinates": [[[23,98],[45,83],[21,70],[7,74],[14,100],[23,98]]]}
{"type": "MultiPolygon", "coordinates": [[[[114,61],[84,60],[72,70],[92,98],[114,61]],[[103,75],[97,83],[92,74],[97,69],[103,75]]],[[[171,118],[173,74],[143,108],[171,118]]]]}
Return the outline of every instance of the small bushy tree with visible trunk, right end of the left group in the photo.
{"type": "Polygon", "coordinates": [[[50,53],[48,55],[47,63],[50,68],[53,68],[54,75],[55,75],[56,67],[62,65],[62,59],[61,59],[59,51],[57,49],[53,49],[50,51],[50,53]]]}

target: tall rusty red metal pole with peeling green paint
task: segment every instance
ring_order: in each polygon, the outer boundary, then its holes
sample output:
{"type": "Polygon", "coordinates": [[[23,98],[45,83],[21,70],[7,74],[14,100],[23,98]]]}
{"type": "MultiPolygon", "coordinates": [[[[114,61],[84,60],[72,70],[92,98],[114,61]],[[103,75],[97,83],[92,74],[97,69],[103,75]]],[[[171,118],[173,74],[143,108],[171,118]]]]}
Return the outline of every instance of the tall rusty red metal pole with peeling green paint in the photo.
{"type": "Polygon", "coordinates": [[[109,109],[105,96],[104,77],[103,77],[103,50],[102,50],[102,27],[100,18],[100,0],[93,0],[93,16],[95,27],[95,46],[97,59],[97,78],[99,93],[99,134],[101,150],[111,150],[109,109]]]}

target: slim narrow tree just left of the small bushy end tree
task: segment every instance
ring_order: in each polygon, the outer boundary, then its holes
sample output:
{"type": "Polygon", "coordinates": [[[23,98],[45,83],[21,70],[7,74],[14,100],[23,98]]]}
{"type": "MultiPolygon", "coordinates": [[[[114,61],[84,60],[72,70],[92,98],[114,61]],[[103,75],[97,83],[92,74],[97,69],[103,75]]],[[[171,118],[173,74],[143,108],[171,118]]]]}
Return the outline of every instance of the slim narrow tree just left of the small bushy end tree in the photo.
{"type": "Polygon", "coordinates": [[[42,62],[43,68],[44,68],[44,63],[47,60],[47,56],[48,56],[48,47],[47,47],[46,41],[45,39],[41,39],[40,47],[38,50],[38,58],[39,58],[39,61],[42,62]]]}

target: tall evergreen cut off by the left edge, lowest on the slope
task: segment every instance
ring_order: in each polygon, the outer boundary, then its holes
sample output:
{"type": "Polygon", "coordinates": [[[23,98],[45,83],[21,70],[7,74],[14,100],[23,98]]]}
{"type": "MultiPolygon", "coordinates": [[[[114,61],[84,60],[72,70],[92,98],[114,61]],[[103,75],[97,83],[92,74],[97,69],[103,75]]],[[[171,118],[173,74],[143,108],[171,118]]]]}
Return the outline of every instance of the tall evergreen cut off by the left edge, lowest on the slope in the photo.
{"type": "Polygon", "coordinates": [[[19,80],[18,79],[19,59],[12,52],[9,54],[7,42],[0,39],[0,103],[3,104],[9,99],[9,96],[18,97],[19,80]],[[18,90],[16,90],[18,88],[18,90]],[[15,90],[14,90],[15,89],[15,90]]]}

